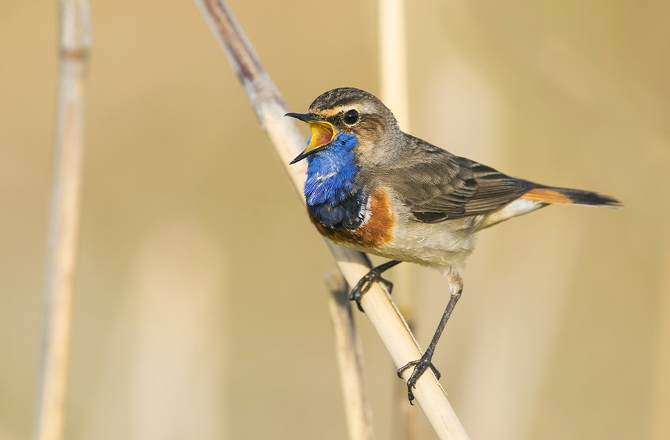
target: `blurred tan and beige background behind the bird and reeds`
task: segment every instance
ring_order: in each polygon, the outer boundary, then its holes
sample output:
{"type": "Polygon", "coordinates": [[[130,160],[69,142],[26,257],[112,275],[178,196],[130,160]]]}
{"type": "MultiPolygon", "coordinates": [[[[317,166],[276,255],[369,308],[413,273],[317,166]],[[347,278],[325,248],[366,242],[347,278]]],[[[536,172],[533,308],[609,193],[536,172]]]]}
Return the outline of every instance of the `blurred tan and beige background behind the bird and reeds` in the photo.
{"type": "MultiPolygon", "coordinates": [[[[379,92],[373,1],[228,4],[292,111],[379,92]]],[[[412,134],[626,204],[480,235],[433,358],[472,439],[670,438],[667,17],[661,0],[407,7],[412,134]]],[[[65,437],[345,438],[334,263],[196,6],[100,0],[92,19],[65,437]]],[[[0,2],[1,440],[35,410],[57,35],[55,2],[0,2]]],[[[414,273],[427,346],[447,284],[414,273]]],[[[398,379],[356,318],[388,439],[398,379]]],[[[418,432],[434,438],[421,415],[418,432]]]]}

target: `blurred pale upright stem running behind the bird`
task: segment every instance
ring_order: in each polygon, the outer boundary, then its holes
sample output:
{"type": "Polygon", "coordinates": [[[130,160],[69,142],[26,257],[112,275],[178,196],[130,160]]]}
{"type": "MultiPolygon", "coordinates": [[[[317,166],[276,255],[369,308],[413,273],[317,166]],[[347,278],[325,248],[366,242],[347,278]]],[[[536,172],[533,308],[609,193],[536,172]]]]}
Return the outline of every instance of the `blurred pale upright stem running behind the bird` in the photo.
{"type": "MultiPolygon", "coordinates": [[[[377,0],[377,29],[379,46],[379,85],[381,100],[393,109],[398,124],[405,132],[409,123],[409,82],[407,73],[407,38],[405,32],[404,0],[377,0]]],[[[394,269],[393,301],[414,330],[413,266],[402,264],[394,269]]],[[[394,438],[415,438],[416,412],[406,405],[407,387],[396,382],[394,387],[396,404],[393,406],[394,438]]]]}

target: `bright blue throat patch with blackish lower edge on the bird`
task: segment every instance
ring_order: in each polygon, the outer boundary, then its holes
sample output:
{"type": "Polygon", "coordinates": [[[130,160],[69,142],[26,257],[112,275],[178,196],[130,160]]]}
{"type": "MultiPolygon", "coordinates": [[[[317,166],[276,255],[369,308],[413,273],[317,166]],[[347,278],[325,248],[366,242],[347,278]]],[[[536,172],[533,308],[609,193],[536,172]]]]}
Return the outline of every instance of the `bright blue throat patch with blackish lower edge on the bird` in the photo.
{"type": "Polygon", "coordinates": [[[331,145],[307,156],[304,198],[325,227],[356,229],[363,222],[361,206],[367,197],[354,188],[359,170],[354,147],[358,143],[354,134],[338,134],[331,145]]]}

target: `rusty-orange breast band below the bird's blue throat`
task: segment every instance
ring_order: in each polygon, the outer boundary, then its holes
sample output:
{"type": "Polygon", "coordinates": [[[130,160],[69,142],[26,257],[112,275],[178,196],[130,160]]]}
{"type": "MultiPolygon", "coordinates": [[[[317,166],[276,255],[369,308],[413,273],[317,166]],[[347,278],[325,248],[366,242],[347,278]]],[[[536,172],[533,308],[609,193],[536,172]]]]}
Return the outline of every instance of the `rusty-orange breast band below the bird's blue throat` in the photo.
{"type": "Polygon", "coordinates": [[[379,189],[370,195],[362,212],[363,220],[355,229],[334,229],[323,225],[309,209],[309,218],[321,235],[341,245],[363,250],[374,250],[393,240],[395,214],[388,194],[379,189]]]}

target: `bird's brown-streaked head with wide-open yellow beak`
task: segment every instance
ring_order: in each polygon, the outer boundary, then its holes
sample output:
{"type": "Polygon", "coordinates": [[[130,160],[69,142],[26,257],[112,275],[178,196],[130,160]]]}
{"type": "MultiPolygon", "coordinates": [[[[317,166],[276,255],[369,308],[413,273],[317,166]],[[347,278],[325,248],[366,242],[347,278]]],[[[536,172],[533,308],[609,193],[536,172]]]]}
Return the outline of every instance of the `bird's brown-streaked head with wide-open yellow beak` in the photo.
{"type": "Polygon", "coordinates": [[[343,87],[322,94],[307,113],[287,113],[311,127],[309,145],[291,164],[329,148],[341,134],[357,137],[359,160],[379,164],[399,148],[402,132],[393,113],[367,91],[343,87]],[[400,134],[400,136],[399,136],[400,134]]]}

